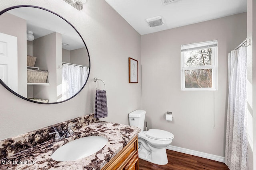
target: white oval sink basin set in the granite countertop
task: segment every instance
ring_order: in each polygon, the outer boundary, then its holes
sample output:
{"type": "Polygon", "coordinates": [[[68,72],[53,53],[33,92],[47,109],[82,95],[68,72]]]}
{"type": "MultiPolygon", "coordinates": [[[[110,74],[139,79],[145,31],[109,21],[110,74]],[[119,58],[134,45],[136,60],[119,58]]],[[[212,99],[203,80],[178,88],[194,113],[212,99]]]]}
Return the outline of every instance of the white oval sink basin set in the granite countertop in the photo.
{"type": "Polygon", "coordinates": [[[107,142],[108,139],[101,136],[89,136],[76,139],[58,148],[52,154],[52,159],[57,161],[78,160],[96,153],[102,149],[107,142]]]}

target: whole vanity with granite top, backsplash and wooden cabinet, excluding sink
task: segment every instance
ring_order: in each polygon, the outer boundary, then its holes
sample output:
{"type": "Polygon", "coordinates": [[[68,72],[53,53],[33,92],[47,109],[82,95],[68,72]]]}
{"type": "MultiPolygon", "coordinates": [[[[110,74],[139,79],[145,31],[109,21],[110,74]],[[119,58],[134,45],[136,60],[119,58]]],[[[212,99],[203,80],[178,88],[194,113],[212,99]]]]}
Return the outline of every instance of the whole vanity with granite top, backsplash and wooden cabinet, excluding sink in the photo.
{"type": "Polygon", "coordinates": [[[85,169],[85,170],[136,170],[138,169],[138,127],[109,123],[86,115],[54,125],[66,129],[70,125],[74,134],[54,141],[52,126],[0,141],[0,169],[85,169]],[[88,136],[108,139],[98,152],[74,161],[56,161],[52,154],[63,145],[88,136]]]}

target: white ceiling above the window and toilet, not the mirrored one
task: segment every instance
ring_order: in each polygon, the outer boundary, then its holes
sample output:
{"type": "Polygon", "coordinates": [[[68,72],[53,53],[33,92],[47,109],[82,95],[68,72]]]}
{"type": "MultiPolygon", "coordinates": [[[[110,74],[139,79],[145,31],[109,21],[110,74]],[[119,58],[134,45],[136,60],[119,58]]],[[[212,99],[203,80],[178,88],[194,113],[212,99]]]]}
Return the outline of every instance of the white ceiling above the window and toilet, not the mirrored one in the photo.
{"type": "Polygon", "coordinates": [[[154,33],[247,11],[247,0],[106,0],[140,33],[154,33]],[[162,16],[163,25],[150,27],[146,19],[162,16]]]}

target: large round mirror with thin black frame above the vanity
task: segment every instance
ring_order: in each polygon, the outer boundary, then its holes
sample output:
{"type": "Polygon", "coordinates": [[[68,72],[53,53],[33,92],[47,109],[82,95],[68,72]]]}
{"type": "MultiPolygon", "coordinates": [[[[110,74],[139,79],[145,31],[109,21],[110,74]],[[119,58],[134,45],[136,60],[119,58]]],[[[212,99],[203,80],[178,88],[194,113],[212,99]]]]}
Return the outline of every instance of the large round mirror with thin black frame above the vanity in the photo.
{"type": "Polygon", "coordinates": [[[10,92],[56,104],[84,88],[88,49],[67,20],[37,6],[14,6],[0,12],[0,23],[0,83],[10,92]]]}

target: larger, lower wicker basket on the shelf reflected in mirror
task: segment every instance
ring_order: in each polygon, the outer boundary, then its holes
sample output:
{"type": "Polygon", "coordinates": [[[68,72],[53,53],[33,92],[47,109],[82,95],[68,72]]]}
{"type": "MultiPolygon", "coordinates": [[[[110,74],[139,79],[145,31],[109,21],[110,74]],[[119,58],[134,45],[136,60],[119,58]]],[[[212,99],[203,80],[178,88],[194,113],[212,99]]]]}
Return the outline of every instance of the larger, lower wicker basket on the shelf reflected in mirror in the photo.
{"type": "Polygon", "coordinates": [[[48,70],[27,69],[28,83],[46,83],[48,70]]]}

